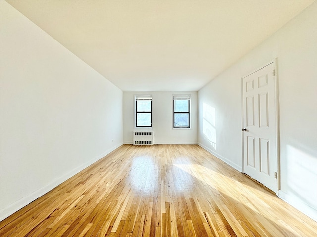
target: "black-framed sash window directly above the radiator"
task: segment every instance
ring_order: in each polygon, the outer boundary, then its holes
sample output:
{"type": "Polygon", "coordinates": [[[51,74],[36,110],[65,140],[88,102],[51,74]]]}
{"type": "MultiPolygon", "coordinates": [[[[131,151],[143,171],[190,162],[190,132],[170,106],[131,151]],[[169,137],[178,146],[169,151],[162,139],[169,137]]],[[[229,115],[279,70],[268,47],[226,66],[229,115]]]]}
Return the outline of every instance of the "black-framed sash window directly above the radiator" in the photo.
{"type": "Polygon", "coordinates": [[[152,127],[152,96],[135,96],[135,126],[152,127]]]}

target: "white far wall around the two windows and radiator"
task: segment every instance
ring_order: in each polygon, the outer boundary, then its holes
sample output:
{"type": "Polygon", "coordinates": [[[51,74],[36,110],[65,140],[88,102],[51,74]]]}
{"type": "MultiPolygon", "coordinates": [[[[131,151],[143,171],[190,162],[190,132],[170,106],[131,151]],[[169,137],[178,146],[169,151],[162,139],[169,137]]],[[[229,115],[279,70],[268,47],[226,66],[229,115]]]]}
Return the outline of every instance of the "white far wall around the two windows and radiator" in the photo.
{"type": "Polygon", "coordinates": [[[135,128],[134,96],[152,95],[154,144],[197,144],[197,92],[123,92],[123,142],[133,143],[135,128]],[[191,95],[191,128],[173,129],[173,95],[191,95]]]}

